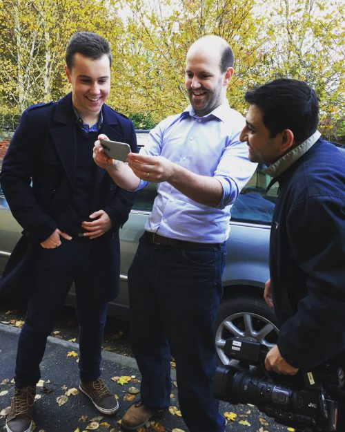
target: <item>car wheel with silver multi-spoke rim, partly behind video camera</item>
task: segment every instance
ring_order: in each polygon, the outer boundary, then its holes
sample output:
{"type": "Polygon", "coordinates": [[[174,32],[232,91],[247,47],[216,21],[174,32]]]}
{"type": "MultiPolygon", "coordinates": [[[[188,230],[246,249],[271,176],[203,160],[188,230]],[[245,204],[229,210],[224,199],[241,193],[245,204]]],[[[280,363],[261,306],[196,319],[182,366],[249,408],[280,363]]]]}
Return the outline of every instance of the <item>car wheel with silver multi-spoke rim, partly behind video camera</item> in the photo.
{"type": "Polygon", "coordinates": [[[246,337],[266,345],[269,349],[277,344],[279,330],[273,309],[264,299],[255,297],[231,297],[219,306],[216,320],[215,346],[219,364],[229,364],[224,353],[226,339],[246,337]]]}

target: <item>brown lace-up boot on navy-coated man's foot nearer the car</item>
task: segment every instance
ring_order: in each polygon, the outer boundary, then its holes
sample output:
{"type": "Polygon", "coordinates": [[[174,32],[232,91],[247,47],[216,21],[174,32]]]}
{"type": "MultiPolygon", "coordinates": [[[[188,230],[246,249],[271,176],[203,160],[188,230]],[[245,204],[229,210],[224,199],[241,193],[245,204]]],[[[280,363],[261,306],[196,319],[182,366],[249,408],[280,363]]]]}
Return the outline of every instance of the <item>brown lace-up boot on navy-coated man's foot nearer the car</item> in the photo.
{"type": "Polygon", "coordinates": [[[110,393],[101,377],[88,384],[81,382],[79,388],[84,395],[90,397],[92,404],[94,404],[102,414],[115,414],[119,409],[119,402],[117,402],[116,397],[110,393]]]}

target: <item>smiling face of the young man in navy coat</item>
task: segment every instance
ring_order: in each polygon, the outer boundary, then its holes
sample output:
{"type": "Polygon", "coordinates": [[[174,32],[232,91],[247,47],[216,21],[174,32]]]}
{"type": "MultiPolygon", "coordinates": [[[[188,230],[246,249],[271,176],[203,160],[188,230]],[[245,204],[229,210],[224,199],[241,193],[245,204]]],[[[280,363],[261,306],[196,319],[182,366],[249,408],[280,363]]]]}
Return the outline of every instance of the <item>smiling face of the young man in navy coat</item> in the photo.
{"type": "MultiPolygon", "coordinates": [[[[99,59],[76,53],[72,69],[65,66],[72,84],[72,102],[84,122],[98,119],[110,92],[110,61],[107,55],[99,59]]],[[[93,123],[92,123],[93,124],[93,123]]]]}

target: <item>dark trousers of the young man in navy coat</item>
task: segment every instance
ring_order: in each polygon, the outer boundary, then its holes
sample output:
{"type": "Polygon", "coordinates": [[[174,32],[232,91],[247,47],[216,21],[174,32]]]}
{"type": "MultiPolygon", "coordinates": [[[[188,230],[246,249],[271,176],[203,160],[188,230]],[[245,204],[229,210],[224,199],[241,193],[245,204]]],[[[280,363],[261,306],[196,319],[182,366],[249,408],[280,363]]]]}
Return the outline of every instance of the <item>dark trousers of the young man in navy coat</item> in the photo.
{"type": "Polygon", "coordinates": [[[75,281],[79,323],[79,373],[81,381],[91,382],[101,375],[101,342],[106,324],[107,303],[99,301],[92,281],[90,248],[87,238],[62,240],[55,249],[41,249],[35,261],[34,295],[28,301],[26,321],[18,343],[15,385],[36,384],[39,364],[47,337],[59,317],[68,290],[75,281]]]}

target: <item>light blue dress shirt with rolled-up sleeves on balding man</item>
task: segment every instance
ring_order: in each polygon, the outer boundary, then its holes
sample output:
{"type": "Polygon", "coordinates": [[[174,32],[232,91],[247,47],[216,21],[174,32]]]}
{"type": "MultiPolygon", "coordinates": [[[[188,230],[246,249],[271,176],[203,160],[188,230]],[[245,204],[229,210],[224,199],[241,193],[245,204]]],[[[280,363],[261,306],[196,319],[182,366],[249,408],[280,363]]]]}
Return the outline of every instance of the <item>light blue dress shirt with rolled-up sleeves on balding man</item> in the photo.
{"type": "MultiPolygon", "coordinates": [[[[248,160],[246,142],[239,141],[244,117],[228,102],[198,117],[192,106],[171,115],[149,134],[140,150],[164,156],[201,176],[215,177],[223,187],[217,207],[199,204],[172,187],[157,184],[157,197],[145,229],[161,236],[197,243],[222,243],[230,233],[230,207],[253,175],[257,164],[248,160]]],[[[148,185],[141,180],[137,190],[148,185]]]]}

